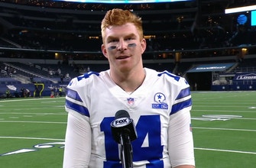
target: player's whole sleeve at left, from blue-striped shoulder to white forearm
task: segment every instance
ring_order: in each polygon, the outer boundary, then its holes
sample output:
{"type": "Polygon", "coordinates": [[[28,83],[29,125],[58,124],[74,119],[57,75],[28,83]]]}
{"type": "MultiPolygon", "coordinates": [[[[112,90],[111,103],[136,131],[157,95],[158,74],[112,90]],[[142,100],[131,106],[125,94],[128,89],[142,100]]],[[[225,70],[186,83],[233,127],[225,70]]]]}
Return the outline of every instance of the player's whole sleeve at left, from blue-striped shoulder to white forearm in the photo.
{"type": "MultiPolygon", "coordinates": [[[[88,81],[88,80],[86,80],[88,81]]],[[[70,81],[67,86],[65,109],[68,112],[63,168],[89,166],[92,148],[92,130],[86,105],[84,76],[70,81]]]]}

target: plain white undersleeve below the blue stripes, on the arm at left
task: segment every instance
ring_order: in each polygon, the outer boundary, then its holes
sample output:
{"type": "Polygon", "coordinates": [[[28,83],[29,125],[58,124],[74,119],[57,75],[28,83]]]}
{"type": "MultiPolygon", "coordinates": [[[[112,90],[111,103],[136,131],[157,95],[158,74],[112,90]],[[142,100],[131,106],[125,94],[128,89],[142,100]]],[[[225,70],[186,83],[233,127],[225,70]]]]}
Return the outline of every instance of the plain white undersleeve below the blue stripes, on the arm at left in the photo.
{"type": "Polygon", "coordinates": [[[89,166],[92,132],[89,118],[75,111],[68,113],[63,168],[89,166]]]}

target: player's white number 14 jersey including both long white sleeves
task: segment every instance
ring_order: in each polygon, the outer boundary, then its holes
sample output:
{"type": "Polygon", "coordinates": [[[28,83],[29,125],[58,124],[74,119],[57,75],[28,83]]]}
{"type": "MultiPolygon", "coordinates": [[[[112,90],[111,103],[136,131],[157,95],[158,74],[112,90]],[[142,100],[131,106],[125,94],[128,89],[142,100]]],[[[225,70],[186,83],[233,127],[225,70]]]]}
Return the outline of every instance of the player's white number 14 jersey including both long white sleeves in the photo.
{"type": "Polygon", "coordinates": [[[63,167],[122,168],[110,126],[119,110],[128,111],[138,134],[131,142],[134,167],[195,164],[189,84],[167,71],[144,70],[144,82],[131,93],[112,81],[109,70],[70,81],[66,111],[76,119],[68,121],[63,167]]]}

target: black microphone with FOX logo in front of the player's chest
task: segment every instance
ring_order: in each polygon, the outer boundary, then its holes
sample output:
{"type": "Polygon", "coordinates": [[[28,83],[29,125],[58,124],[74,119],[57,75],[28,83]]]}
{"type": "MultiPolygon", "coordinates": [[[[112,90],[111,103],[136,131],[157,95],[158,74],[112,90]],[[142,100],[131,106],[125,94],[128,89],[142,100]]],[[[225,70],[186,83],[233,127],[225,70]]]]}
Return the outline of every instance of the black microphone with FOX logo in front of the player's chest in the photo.
{"type": "Polygon", "coordinates": [[[119,110],[115,113],[115,120],[111,123],[111,130],[114,140],[121,144],[122,147],[121,159],[123,168],[132,168],[131,141],[137,138],[137,132],[128,111],[119,110]]]}

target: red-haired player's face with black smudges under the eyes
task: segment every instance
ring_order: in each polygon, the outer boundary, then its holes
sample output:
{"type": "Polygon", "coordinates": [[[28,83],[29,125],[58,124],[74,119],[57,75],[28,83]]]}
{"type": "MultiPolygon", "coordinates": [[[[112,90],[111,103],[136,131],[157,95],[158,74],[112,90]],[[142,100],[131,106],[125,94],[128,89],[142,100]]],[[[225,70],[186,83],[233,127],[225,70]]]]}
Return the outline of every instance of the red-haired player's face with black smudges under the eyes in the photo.
{"type": "Polygon", "coordinates": [[[146,49],[146,41],[140,39],[134,24],[112,26],[105,30],[102,53],[109,60],[111,69],[121,72],[136,68],[142,63],[141,54],[146,49]]]}

